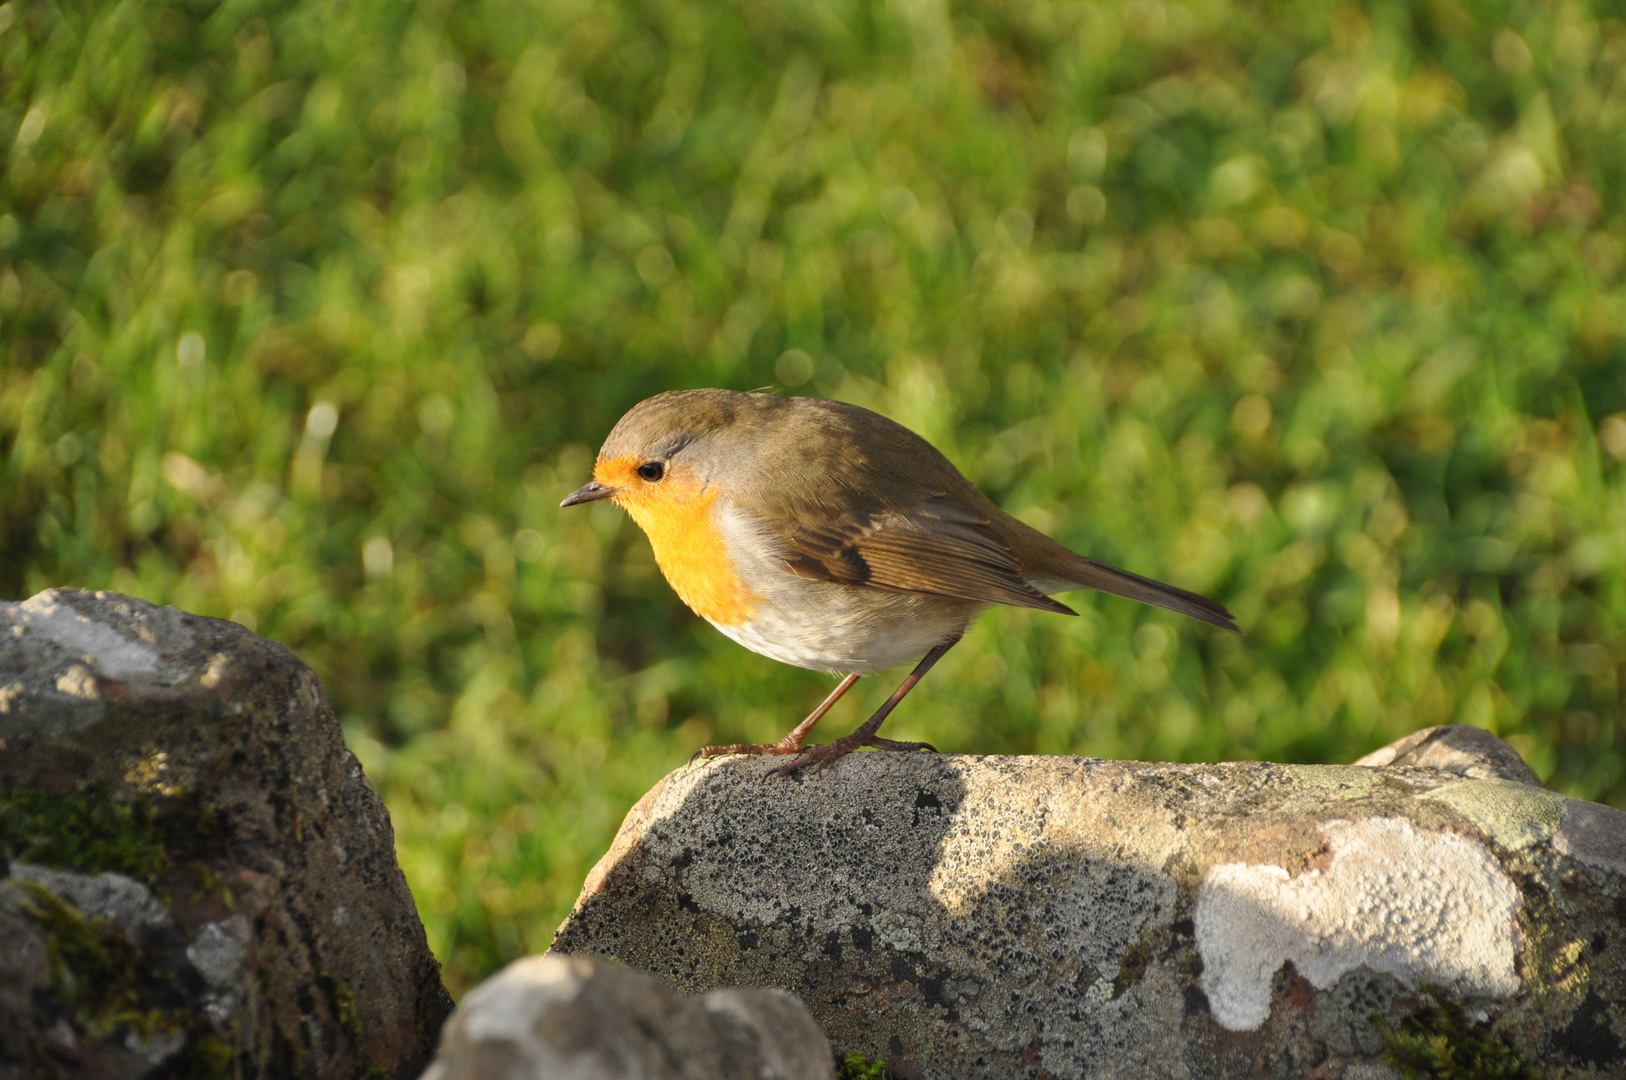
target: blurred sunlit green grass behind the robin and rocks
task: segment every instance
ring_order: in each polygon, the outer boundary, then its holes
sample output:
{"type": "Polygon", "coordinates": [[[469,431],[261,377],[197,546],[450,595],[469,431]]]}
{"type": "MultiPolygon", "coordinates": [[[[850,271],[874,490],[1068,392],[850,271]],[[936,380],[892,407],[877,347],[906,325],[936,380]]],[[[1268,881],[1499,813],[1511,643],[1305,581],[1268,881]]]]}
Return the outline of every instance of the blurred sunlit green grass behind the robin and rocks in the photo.
{"type": "Polygon", "coordinates": [[[0,146],[0,595],[294,647],[454,991],[829,685],[556,509],[662,389],[878,408],[1247,631],[997,610],[894,738],[1455,721],[1626,805],[1610,5],[10,0],[0,146]]]}

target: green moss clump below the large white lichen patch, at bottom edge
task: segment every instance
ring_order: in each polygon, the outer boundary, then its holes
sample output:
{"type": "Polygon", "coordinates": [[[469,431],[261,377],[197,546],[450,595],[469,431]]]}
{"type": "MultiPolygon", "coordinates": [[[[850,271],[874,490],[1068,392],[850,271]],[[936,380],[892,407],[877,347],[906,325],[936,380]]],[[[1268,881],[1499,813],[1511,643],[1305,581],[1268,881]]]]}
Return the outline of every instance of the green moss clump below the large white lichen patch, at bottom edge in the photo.
{"type": "Polygon", "coordinates": [[[1540,1080],[1537,1067],[1506,1034],[1468,1017],[1462,1002],[1424,986],[1428,1004],[1390,1025],[1377,1012],[1384,1062],[1406,1080],[1540,1080]]]}

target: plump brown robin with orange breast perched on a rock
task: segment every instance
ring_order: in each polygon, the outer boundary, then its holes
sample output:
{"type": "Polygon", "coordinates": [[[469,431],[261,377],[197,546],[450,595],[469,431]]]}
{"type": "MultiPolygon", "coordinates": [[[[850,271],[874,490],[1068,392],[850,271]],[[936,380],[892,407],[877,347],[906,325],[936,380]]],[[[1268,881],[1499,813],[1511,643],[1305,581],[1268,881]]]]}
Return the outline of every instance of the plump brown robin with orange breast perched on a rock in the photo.
{"type": "Polygon", "coordinates": [[[933,750],[876,732],[993,603],[1076,615],[1050,594],[1099,589],[1236,629],[1220,603],[1076,555],[993,506],[937,447],[886,416],[813,397],[676,390],[639,402],[559,506],[611,499],[701,618],[753,652],[839,675],[776,743],[820,768],[859,747],[933,750]],[[924,659],[862,727],[803,747],[847,690],[924,659]]]}

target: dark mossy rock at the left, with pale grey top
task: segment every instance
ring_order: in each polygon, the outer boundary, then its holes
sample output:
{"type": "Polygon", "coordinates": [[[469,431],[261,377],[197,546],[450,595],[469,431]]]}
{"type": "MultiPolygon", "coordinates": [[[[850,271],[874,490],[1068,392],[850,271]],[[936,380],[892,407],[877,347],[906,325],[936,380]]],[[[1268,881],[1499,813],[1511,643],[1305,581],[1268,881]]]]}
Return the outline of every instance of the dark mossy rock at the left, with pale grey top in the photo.
{"type": "Polygon", "coordinates": [[[0,603],[0,1080],[405,1080],[449,1012],[298,657],[115,594],[0,603]]]}

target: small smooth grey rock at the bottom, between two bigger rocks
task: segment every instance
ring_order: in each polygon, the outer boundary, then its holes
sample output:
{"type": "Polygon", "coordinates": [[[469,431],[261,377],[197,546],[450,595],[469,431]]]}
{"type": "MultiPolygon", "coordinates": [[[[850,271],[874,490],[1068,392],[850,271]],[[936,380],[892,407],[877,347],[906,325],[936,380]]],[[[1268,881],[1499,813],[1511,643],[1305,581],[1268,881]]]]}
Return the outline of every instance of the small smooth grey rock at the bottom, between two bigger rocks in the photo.
{"type": "Polygon", "coordinates": [[[829,1043],[784,991],[680,999],[590,956],[528,956],[468,992],[423,1080],[833,1080],[829,1043]]]}

